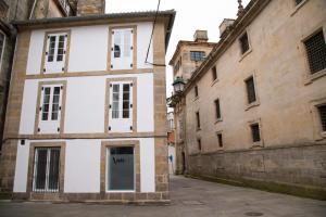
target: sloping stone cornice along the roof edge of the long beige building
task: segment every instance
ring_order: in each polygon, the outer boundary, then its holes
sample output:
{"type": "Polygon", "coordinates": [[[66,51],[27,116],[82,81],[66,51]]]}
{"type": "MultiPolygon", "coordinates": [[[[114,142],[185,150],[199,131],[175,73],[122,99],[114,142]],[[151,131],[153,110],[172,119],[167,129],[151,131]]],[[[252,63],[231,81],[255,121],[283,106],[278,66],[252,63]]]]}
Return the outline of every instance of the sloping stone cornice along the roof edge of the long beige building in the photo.
{"type": "Polygon", "coordinates": [[[251,0],[244,11],[238,16],[235,23],[224,34],[217,44],[213,48],[205,61],[193,72],[191,78],[185,87],[187,93],[191,87],[200,79],[208,69],[223,55],[225,51],[234,43],[234,41],[242,34],[247,26],[263,11],[271,0],[251,0]]]}

